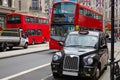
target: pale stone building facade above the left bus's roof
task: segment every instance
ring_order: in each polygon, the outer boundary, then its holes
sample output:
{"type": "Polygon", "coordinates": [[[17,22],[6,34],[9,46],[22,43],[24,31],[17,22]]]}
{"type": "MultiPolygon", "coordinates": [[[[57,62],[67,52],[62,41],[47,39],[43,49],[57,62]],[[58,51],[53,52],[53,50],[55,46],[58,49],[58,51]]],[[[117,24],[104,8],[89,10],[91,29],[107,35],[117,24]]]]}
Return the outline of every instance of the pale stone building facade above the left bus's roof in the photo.
{"type": "Polygon", "coordinates": [[[17,12],[47,17],[52,0],[15,0],[17,12]]]}

